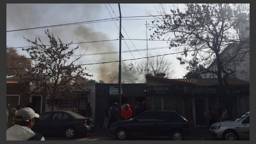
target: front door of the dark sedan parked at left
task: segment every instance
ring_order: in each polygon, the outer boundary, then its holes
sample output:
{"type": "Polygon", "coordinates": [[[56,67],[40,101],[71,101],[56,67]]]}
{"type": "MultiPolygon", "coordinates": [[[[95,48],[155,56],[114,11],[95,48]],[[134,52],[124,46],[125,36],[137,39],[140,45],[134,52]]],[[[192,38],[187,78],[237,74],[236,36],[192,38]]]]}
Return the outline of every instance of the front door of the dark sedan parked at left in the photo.
{"type": "Polygon", "coordinates": [[[38,132],[42,135],[49,134],[49,120],[52,112],[42,113],[39,118],[36,118],[32,131],[38,132]]]}

